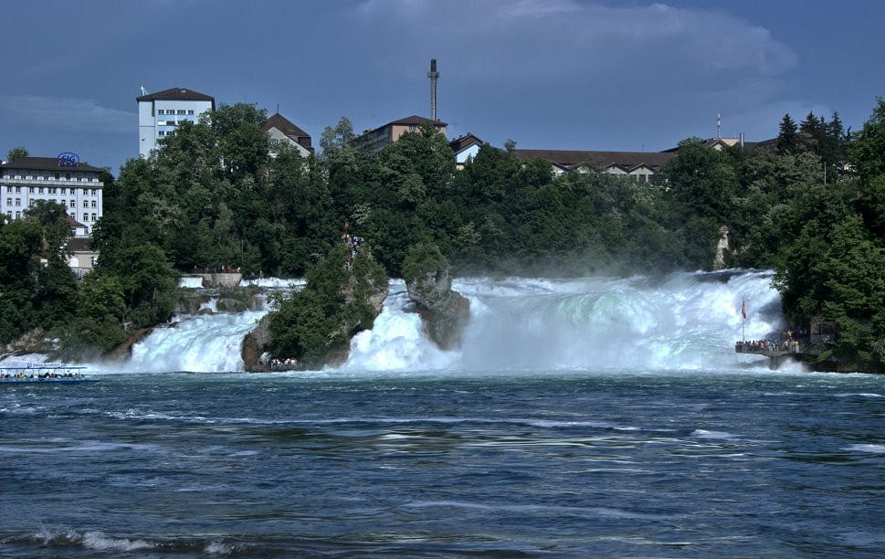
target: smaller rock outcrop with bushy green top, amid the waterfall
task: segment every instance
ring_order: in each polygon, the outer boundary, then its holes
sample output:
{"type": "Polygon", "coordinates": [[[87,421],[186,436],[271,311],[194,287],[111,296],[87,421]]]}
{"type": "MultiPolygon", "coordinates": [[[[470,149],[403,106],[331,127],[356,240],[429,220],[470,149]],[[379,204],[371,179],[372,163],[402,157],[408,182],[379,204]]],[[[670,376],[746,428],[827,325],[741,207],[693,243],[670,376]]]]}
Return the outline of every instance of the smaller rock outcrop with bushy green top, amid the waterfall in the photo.
{"type": "Polygon", "coordinates": [[[403,277],[427,336],[440,349],[458,347],[470,318],[470,301],[452,290],[448,259],[436,246],[419,245],[409,251],[403,277]]]}

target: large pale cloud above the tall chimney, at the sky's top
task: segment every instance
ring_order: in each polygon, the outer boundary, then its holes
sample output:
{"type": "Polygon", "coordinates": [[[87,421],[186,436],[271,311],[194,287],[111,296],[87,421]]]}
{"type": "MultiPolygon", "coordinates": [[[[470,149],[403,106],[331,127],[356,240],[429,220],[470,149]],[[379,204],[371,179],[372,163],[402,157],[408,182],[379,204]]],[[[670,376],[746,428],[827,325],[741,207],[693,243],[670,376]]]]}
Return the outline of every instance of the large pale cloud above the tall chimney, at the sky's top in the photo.
{"type": "Polygon", "coordinates": [[[367,0],[359,13],[393,49],[434,47],[437,58],[457,60],[468,79],[620,73],[653,80],[667,73],[728,82],[771,78],[796,64],[795,53],[763,27],[665,4],[367,0]]]}

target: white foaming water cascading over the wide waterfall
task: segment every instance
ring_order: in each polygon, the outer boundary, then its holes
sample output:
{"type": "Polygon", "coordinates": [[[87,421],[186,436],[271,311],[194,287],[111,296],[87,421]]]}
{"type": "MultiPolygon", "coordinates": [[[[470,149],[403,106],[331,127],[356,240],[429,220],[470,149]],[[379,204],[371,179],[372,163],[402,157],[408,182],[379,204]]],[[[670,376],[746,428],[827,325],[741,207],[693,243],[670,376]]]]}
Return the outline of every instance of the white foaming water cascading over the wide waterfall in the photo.
{"type": "MultiPolygon", "coordinates": [[[[770,272],[731,270],[579,280],[456,280],[470,300],[457,351],[440,351],[412,312],[402,280],[371,331],[357,334],[348,371],[730,369],[764,366],[734,353],[742,338],[785,328],[770,272]],[[742,324],[742,302],[748,320],[742,324]]],[[[269,280],[269,284],[289,282],[269,280]]],[[[243,336],[266,311],[179,317],[132,348],[132,372],[241,371],[243,336]]],[[[115,365],[119,371],[121,367],[115,365]]]]}

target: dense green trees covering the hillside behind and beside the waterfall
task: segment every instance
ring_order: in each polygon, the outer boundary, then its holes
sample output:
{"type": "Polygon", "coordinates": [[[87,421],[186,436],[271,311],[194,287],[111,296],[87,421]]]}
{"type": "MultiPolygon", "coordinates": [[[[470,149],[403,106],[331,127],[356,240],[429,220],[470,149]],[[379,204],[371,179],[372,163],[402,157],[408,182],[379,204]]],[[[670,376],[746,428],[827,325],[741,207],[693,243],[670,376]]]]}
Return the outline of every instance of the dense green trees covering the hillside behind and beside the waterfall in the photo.
{"type": "Polygon", "coordinates": [[[266,116],[222,105],[103,177],[100,260],[82,281],[64,265],[63,208],[0,222],[0,342],[39,326],[58,329],[73,353],[107,351],[168,319],[180,273],[302,277],[345,223],[392,277],[419,244],[460,276],[711,269],[727,227],[726,266],[774,269],[789,321],[827,317],[839,332],[832,356],[885,369],[883,100],[858,132],[838,114],[785,115],[776,149],[685,140],[648,183],[554,174],[543,160],[521,162],[512,142],[483,145],[458,171],[429,127],[364,153],[343,118],[322,133],[321,154],[302,157],[270,144],[266,116]]]}

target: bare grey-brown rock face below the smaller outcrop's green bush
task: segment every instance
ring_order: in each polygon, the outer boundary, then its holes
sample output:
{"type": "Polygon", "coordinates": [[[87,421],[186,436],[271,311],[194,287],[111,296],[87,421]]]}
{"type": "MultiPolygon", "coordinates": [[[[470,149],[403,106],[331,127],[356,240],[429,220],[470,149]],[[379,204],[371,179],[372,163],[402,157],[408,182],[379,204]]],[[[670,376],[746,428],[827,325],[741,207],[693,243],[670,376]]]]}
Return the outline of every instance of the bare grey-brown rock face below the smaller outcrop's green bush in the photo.
{"type": "Polygon", "coordinates": [[[427,335],[448,350],[461,343],[461,335],[470,318],[470,301],[452,290],[448,268],[428,271],[406,281],[409,299],[415,301],[427,335]]]}

